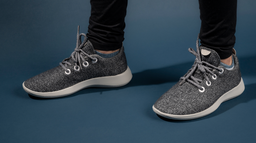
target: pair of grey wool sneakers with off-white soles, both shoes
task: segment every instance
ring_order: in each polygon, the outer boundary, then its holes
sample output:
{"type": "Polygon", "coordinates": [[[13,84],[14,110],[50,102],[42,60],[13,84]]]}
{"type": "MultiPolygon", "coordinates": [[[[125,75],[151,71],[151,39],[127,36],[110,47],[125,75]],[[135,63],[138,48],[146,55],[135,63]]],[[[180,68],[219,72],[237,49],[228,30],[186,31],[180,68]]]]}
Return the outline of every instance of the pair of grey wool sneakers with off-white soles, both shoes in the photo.
{"type": "MultiPolygon", "coordinates": [[[[191,48],[189,51],[196,56],[194,65],[153,105],[154,112],[160,116],[175,120],[200,118],[244,91],[235,50],[232,55],[233,69],[220,66],[217,52],[199,47],[198,38],[197,51],[191,48]]],[[[26,80],[23,88],[33,96],[55,98],[87,87],[119,87],[128,84],[131,79],[123,47],[114,57],[102,58],[95,54],[86,35],[78,31],[77,45],[71,56],[58,67],[26,80]],[[81,36],[85,37],[83,42],[81,36]]]]}

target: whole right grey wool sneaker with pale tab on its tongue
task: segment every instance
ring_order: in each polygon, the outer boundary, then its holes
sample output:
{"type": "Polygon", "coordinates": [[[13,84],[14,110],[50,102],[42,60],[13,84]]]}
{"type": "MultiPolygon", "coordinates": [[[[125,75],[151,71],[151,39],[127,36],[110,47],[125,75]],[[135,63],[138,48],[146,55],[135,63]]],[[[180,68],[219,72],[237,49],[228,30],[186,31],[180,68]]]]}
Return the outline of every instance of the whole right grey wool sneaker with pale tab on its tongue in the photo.
{"type": "Polygon", "coordinates": [[[244,91],[234,49],[233,69],[220,66],[217,52],[199,47],[198,38],[197,52],[192,48],[188,50],[196,56],[194,65],[153,105],[154,112],[165,118],[191,120],[206,116],[214,112],[220,103],[235,98],[244,91]]]}

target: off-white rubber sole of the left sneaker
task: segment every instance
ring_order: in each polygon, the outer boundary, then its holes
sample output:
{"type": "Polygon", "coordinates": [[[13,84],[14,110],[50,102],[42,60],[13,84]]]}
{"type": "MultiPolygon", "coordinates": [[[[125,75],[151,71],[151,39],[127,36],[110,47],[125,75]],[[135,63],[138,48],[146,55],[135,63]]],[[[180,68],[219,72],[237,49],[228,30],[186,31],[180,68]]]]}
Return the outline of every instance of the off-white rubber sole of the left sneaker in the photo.
{"type": "Polygon", "coordinates": [[[133,75],[131,73],[131,70],[127,66],[126,71],[123,72],[122,74],[119,74],[116,76],[105,76],[105,77],[88,79],[78,84],[75,84],[73,86],[70,86],[68,88],[65,88],[59,91],[54,91],[54,92],[45,92],[45,93],[35,92],[25,87],[24,83],[22,85],[24,90],[30,95],[41,97],[41,98],[56,98],[56,97],[63,97],[63,96],[73,94],[87,87],[105,87],[105,88],[120,87],[128,84],[131,81],[132,77],[133,75]]]}

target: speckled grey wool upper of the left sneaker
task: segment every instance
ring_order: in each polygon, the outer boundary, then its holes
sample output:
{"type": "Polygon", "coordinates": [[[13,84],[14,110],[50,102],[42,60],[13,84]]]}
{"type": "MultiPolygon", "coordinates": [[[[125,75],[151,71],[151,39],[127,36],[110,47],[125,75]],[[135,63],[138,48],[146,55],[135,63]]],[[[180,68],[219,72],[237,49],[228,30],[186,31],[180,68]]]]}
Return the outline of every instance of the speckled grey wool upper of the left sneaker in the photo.
{"type": "Polygon", "coordinates": [[[69,63],[72,63],[72,65],[67,66],[71,71],[69,75],[66,75],[65,70],[61,66],[58,66],[26,80],[24,85],[35,92],[54,92],[91,78],[115,76],[123,73],[127,69],[127,61],[123,47],[120,49],[119,53],[112,58],[102,58],[96,55],[89,40],[82,49],[91,57],[97,58],[98,61],[92,63],[90,58],[84,57],[89,63],[89,66],[82,67],[79,71],[75,71],[75,64],[72,58],[70,58],[69,63]]]}

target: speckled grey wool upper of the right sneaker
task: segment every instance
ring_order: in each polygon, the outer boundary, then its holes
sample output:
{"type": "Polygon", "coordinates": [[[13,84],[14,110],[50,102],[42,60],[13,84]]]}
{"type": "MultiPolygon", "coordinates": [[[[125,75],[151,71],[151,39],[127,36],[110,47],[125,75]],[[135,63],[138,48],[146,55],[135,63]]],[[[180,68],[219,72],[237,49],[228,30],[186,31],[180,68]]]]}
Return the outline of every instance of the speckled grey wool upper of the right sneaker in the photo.
{"type": "Polygon", "coordinates": [[[200,71],[196,71],[194,77],[200,78],[203,81],[200,86],[205,88],[203,93],[199,92],[198,88],[189,82],[185,82],[179,85],[181,80],[163,94],[154,104],[154,107],[160,112],[172,114],[172,115],[188,115],[194,114],[206,110],[213,105],[220,96],[236,87],[241,81],[241,73],[239,68],[239,62],[236,55],[233,54],[235,67],[232,70],[227,70],[220,66],[219,55],[212,49],[200,47],[211,51],[207,56],[201,54],[202,61],[206,61],[216,67],[223,68],[222,74],[217,70],[213,70],[217,75],[217,79],[214,80],[211,74],[208,75],[211,85],[206,85],[206,79],[200,74],[200,71]]]}

